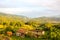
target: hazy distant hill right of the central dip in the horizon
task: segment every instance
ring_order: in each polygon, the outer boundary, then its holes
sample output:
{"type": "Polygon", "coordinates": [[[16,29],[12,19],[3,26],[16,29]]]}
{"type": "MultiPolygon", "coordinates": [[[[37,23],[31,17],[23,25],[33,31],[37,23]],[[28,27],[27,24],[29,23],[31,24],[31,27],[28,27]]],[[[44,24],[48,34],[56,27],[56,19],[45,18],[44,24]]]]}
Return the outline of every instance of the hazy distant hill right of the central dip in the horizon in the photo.
{"type": "Polygon", "coordinates": [[[60,23],[60,17],[38,17],[38,18],[33,18],[31,20],[37,20],[40,22],[52,22],[52,23],[60,23]]]}

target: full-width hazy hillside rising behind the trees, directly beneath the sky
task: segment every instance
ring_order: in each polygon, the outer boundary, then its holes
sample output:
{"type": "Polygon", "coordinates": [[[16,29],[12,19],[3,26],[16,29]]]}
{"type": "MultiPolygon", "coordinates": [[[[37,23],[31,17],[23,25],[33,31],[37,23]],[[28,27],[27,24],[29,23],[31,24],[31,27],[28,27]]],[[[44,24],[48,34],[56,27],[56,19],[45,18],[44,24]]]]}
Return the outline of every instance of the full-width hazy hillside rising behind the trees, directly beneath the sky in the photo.
{"type": "MultiPolygon", "coordinates": [[[[12,20],[18,20],[18,21],[41,21],[41,22],[54,22],[54,23],[59,23],[60,22],[60,17],[57,16],[52,16],[52,17],[38,17],[38,18],[28,18],[26,16],[21,16],[21,15],[12,15],[12,14],[5,14],[5,13],[0,13],[1,18],[6,18],[7,20],[12,19],[12,20]]],[[[0,19],[1,19],[0,18],[0,19]]]]}

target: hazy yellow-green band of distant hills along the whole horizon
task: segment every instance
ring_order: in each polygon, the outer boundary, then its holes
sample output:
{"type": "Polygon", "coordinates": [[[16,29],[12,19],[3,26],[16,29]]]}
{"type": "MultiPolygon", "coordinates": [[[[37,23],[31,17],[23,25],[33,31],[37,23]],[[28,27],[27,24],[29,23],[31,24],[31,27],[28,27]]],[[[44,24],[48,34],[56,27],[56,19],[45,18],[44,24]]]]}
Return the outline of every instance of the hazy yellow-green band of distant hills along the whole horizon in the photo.
{"type": "Polygon", "coordinates": [[[53,21],[53,22],[60,22],[60,15],[57,16],[52,16],[52,17],[38,17],[38,18],[28,18],[26,16],[21,16],[21,15],[12,15],[12,14],[5,14],[5,13],[0,13],[0,16],[10,18],[12,17],[13,19],[22,19],[24,21],[29,21],[29,20],[39,20],[43,22],[48,22],[48,21],[53,21]]]}

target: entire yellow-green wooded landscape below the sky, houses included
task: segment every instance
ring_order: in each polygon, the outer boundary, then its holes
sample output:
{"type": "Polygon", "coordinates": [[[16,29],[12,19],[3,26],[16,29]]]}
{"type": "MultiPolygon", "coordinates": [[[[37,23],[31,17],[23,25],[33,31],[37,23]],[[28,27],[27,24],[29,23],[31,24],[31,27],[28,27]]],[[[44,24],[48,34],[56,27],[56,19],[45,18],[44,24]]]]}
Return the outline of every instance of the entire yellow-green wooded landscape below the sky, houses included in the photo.
{"type": "Polygon", "coordinates": [[[60,40],[60,17],[0,13],[0,40],[60,40]]]}

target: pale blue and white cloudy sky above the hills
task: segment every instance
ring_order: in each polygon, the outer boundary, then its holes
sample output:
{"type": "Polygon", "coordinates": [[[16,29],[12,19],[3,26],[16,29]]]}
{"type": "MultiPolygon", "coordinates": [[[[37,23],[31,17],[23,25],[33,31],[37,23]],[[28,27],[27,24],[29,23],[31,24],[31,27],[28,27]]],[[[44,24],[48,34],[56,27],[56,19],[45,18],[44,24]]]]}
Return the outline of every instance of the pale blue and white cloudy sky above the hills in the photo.
{"type": "Polygon", "coordinates": [[[60,0],[0,0],[0,12],[28,17],[60,15],[60,0]]]}

